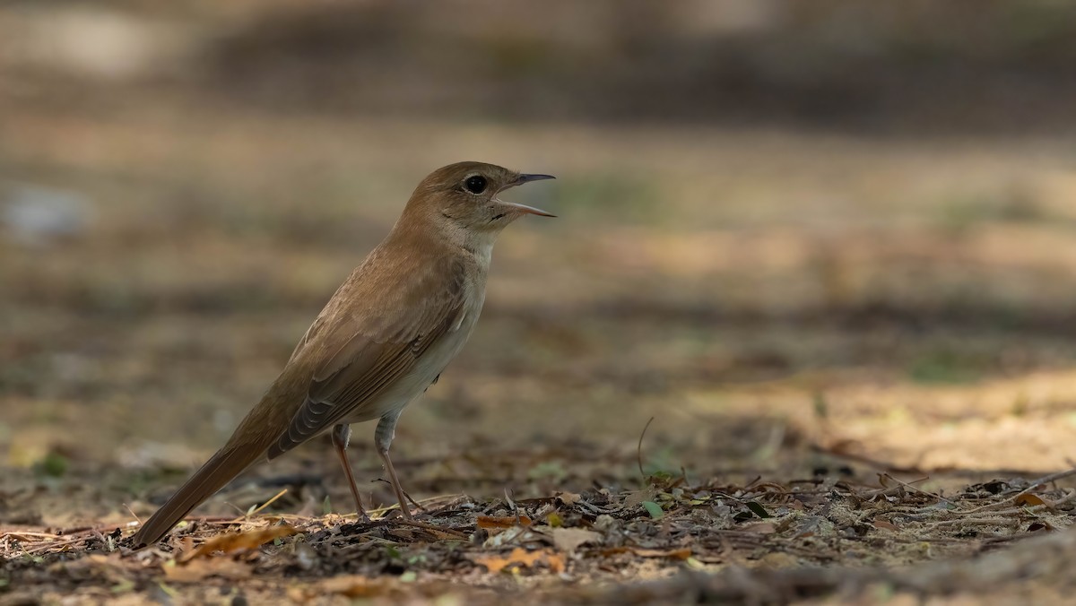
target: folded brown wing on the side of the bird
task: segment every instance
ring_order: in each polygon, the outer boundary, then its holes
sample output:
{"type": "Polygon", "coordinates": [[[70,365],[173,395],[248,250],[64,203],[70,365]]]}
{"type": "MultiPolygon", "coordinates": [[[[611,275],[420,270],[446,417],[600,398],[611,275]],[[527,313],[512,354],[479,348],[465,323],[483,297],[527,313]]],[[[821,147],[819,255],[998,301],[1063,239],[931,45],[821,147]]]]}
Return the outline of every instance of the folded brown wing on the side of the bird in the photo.
{"type": "MultiPolygon", "coordinates": [[[[341,299],[350,299],[352,308],[318,318],[321,324],[311,326],[299,348],[314,347],[329,355],[314,369],[306,401],[269,447],[270,460],[355,417],[406,376],[434,343],[458,328],[466,307],[463,271],[444,269],[396,281],[391,296],[382,292],[377,297],[382,304],[392,301],[385,309],[369,309],[349,296],[341,299]]],[[[297,348],[293,357],[300,354],[297,348]]]]}

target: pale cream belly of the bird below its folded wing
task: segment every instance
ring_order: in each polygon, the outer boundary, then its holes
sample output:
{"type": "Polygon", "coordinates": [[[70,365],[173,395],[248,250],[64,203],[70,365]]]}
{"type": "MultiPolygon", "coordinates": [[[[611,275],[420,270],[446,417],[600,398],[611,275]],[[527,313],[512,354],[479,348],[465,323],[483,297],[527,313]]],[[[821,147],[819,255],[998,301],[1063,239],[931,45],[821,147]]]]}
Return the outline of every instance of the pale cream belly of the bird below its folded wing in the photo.
{"type": "MultiPolygon", "coordinates": [[[[476,313],[476,315],[478,314],[476,313]]],[[[467,342],[471,328],[475,326],[473,320],[470,322],[467,320],[469,319],[465,319],[459,328],[449,333],[426,350],[422,357],[415,362],[410,372],[400,377],[392,386],[372,399],[369,405],[358,407],[342,422],[350,424],[380,419],[388,413],[398,412],[421,396],[467,342]]]]}

